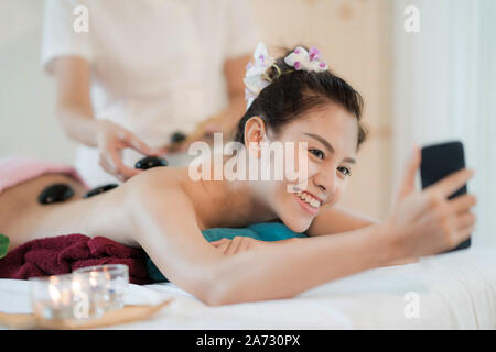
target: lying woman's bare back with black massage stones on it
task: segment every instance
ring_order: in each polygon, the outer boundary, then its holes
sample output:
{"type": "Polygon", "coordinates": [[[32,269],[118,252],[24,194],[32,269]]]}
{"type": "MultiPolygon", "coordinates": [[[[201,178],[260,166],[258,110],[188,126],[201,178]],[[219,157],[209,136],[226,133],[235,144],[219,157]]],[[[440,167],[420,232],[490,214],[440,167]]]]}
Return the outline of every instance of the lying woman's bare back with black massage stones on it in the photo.
{"type": "MultiPolygon", "coordinates": [[[[154,198],[165,200],[168,193],[163,191],[164,188],[182,188],[184,184],[188,184],[184,188],[191,197],[203,193],[198,183],[193,184],[188,179],[187,168],[168,167],[148,170],[147,174],[152,174],[155,180],[154,186],[150,185],[154,187],[154,198]]],[[[65,174],[46,174],[15,185],[0,194],[0,233],[10,238],[10,250],[34,239],[71,233],[104,235],[126,245],[138,246],[137,239],[128,233],[125,204],[132,202],[132,188],[148,183],[150,177],[133,178],[90,198],[83,198],[87,191],[85,186],[65,174]],[[39,204],[37,197],[43,189],[57,183],[69,185],[74,196],[62,202],[39,204]]],[[[177,220],[177,213],[164,215],[164,218],[168,216],[177,220]]],[[[201,221],[198,227],[203,228],[201,221]]]]}

